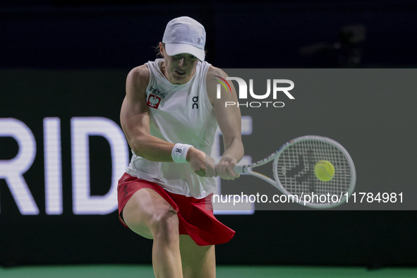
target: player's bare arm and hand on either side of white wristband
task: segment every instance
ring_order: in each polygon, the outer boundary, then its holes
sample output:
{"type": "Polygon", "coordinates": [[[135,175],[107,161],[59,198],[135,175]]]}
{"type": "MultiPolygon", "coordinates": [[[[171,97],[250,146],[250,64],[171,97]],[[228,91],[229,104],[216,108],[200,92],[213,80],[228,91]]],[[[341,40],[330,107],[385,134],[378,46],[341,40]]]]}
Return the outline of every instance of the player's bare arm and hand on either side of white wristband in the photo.
{"type": "MultiPolygon", "coordinates": [[[[121,127],[128,143],[136,155],[157,162],[172,162],[171,151],[174,143],[169,143],[150,135],[150,115],[146,102],[146,88],[149,83],[149,70],[146,65],[133,68],[126,78],[126,97],[120,114],[121,127]]],[[[211,158],[211,157],[210,157],[211,158]]],[[[187,161],[191,169],[199,176],[213,176],[205,171],[206,155],[191,147],[187,152],[187,161]]]]}

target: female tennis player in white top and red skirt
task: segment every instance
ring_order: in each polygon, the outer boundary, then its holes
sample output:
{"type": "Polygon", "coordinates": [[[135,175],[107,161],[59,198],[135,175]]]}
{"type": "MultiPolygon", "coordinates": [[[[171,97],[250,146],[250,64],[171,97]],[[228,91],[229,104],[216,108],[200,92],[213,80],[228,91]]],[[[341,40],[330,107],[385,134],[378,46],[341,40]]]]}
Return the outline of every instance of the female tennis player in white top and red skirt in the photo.
{"type": "Polygon", "coordinates": [[[121,126],[133,157],[118,186],[119,218],[153,239],[156,277],[215,277],[214,246],[235,234],[212,211],[214,176],[235,179],[243,157],[236,91],[205,60],[205,29],[188,17],[171,20],[159,44],[163,59],[133,68],[126,80],[121,126]],[[216,77],[214,77],[216,76],[216,77]],[[224,154],[210,157],[219,126],[224,154]]]}

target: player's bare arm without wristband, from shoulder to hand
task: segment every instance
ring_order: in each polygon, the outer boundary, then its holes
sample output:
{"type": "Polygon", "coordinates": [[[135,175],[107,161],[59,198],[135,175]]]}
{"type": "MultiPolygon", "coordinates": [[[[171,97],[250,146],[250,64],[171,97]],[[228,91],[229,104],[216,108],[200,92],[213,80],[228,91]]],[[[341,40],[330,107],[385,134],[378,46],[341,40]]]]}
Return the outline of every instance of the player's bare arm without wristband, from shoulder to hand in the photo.
{"type": "Polygon", "coordinates": [[[226,78],[227,75],[220,68],[211,66],[207,72],[207,94],[214,107],[214,113],[219,123],[220,131],[223,134],[224,153],[219,164],[217,164],[217,174],[222,179],[236,179],[233,169],[243,157],[243,143],[241,138],[241,110],[236,107],[225,107],[225,102],[237,102],[236,90],[231,85],[231,92],[226,92],[221,87],[221,97],[217,99],[217,84],[214,75],[226,78]]]}

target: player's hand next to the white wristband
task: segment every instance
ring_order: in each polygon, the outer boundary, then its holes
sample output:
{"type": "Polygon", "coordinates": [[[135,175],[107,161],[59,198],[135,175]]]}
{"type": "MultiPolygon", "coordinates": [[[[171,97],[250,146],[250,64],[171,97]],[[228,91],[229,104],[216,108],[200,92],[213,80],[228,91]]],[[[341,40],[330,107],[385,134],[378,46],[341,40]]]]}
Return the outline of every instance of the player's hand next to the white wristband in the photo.
{"type": "Polygon", "coordinates": [[[216,169],[214,168],[214,159],[205,152],[197,150],[195,147],[190,147],[186,157],[191,169],[198,174],[206,178],[217,176],[216,169]]]}

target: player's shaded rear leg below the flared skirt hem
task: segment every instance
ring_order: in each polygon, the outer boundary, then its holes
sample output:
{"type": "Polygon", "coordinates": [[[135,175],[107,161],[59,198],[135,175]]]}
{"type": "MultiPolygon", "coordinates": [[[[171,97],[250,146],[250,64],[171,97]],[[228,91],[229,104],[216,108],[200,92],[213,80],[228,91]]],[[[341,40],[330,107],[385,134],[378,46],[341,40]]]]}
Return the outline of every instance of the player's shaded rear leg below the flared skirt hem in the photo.
{"type": "Polygon", "coordinates": [[[198,246],[190,236],[181,234],[179,246],[184,278],[216,277],[214,245],[198,246]]]}

